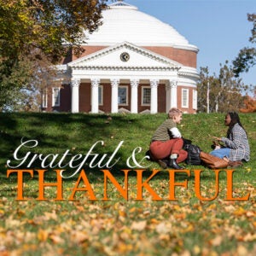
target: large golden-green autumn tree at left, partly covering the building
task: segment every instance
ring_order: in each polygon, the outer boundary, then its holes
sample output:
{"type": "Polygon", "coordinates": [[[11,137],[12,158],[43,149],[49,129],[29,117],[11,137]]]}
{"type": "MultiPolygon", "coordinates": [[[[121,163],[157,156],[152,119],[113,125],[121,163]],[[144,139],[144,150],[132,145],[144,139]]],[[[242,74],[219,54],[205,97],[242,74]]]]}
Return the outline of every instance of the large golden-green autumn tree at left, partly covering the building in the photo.
{"type": "Polygon", "coordinates": [[[102,24],[106,2],[0,0],[0,109],[22,102],[70,49],[83,51],[84,30],[102,24]]]}

